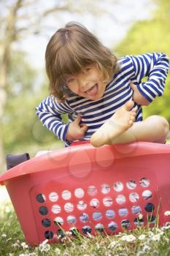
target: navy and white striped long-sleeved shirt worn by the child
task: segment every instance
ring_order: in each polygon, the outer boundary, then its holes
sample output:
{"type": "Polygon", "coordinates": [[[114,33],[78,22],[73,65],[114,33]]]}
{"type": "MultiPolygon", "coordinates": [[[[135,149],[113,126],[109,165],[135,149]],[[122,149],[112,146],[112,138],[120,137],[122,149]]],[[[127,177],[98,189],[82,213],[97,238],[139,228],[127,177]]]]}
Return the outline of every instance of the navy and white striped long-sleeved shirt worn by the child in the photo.
{"type": "MultiPolygon", "coordinates": [[[[107,84],[101,99],[90,100],[73,94],[65,102],[58,102],[55,97],[48,96],[36,108],[36,115],[42,124],[54,132],[59,140],[65,141],[66,146],[72,143],[66,140],[69,124],[78,114],[82,116],[82,124],[88,126],[88,131],[80,140],[90,140],[96,129],[101,127],[125,102],[132,99],[130,80],[149,102],[163,94],[169,70],[168,56],[163,53],[146,53],[139,56],[125,56],[119,59],[118,63],[120,71],[107,84]],[[145,76],[147,82],[143,83],[142,78],[145,76]],[[68,124],[62,121],[63,113],[68,113],[68,124]]],[[[136,106],[136,121],[142,121],[142,107],[136,106]]]]}

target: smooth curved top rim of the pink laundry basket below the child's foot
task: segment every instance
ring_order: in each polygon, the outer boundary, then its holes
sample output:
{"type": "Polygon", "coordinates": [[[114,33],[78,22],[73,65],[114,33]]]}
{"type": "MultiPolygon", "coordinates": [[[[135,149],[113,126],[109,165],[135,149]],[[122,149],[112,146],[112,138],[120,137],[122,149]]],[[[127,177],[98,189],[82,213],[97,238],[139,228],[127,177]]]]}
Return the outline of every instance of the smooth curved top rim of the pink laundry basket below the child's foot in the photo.
{"type": "MultiPolygon", "coordinates": [[[[67,167],[68,165],[80,165],[79,158],[84,155],[83,152],[88,154],[89,162],[96,162],[96,152],[101,156],[106,156],[108,151],[111,151],[114,154],[115,159],[125,158],[125,157],[139,157],[144,155],[152,155],[152,154],[170,154],[170,145],[169,144],[159,144],[159,143],[148,143],[148,142],[133,142],[126,144],[115,144],[112,146],[102,146],[99,148],[94,148],[90,143],[78,142],[74,143],[73,146],[56,149],[54,151],[50,151],[50,153],[46,153],[39,157],[34,157],[32,159],[27,160],[26,162],[22,162],[15,167],[5,171],[0,176],[0,184],[4,185],[4,181],[7,181],[12,178],[16,178],[18,176],[23,176],[31,173],[38,173],[44,170],[52,170],[56,166],[67,167]],[[70,159],[77,154],[77,161],[71,161],[70,159]]],[[[75,157],[74,157],[75,159],[75,157]]],[[[87,157],[86,157],[87,160],[87,157]]],[[[107,160],[109,158],[107,157],[107,160]]],[[[104,158],[101,161],[104,161],[104,158]]],[[[83,162],[83,161],[82,161],[83,162]]],[[[81,165],[82,165],[81,162],[81,165]]],[[[85,162],[83,162],[85,164],[85,162]]]]}

